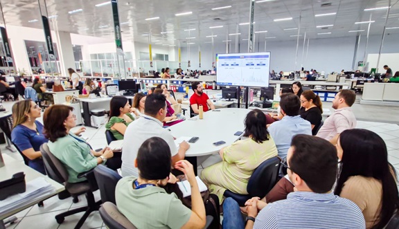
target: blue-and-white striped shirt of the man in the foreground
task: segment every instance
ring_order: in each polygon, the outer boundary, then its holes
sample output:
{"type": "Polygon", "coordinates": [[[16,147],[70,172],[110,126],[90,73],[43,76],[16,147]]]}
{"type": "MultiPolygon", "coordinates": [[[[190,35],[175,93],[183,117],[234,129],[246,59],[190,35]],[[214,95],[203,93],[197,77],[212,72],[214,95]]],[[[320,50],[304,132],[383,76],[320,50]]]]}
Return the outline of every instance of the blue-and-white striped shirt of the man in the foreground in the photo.
{"type": "Polygon", "coordinates": [[[291,192],[269,203],[256,217],[254,228],[366,228],[360,209],[332,192],[291,192]]]}

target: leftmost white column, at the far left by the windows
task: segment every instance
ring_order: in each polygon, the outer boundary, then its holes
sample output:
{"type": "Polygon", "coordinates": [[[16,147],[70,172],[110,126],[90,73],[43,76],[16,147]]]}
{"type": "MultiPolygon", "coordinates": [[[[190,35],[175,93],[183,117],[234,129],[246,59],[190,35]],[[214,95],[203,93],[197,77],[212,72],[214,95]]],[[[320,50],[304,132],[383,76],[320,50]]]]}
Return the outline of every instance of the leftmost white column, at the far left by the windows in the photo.
{"type": "Polygon", "coordinates": [[[9,41],[17,71],[22,71],[22,69],[24,69],[28,75],[32,75],[32,69],[30,67],[28,53],[26,53],[24,39],[9,38],[9,41]]]}

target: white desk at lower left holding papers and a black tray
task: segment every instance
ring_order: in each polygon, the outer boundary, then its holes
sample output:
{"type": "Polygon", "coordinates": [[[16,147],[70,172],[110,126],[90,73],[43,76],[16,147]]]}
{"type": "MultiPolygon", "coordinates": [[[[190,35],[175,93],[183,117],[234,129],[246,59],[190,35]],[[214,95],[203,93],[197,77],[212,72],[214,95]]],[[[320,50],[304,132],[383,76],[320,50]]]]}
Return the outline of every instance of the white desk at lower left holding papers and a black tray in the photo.
{"type": "MultiPolygon", "coordinates": [[[[0,152],[1,154],[1,152],[0,152]]],[[[47,192],[45,195],[40,196],[37,199],[33,199],[32,201],[28,201],[24,203],[23,205],[20,205],[16,208],[12,208],[11,210],[8,210],[7,212],[3,213],[0,215],[0,229],[6,228],[4,226],[3,220],[16,214],[17,212],[20,212],[21,210],[25,210],[26,208],[29,208],[30,206],[33,206],[40,201],[44,201],[51,196],[55,196],[56,194],[62,192],[65,190],[64,185],[57,183],[56,181],[53,181],[51,178],[48,178],[48,176],[45,176],[36,170],[33,170],[32,168],[26,166],[24,162],[22,161],[17,161],[15,158],[12,158],[11,156],[8,156],[7,154],[2,154],[3,156],[3,161],[4,161],[4,166],[0,167],[0,181],[7,180],[12,177],[13,174],[16,174],[18,172],[24,172],[25,174],[25,181],[33,181],[35,178],[43,177],[48,183],[50,183],[51,186],[53,186],[53,191],[52,192],[47,192]]]]}

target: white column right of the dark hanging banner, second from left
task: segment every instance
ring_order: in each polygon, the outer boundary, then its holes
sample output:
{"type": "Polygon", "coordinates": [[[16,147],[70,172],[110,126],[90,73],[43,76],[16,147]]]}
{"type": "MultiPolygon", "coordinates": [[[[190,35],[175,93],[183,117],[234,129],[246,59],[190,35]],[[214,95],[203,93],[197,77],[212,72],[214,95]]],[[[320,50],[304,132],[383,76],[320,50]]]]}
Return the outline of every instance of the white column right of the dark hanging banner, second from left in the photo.
{"type": "Polygon", "coordinates": [[[71,42],[71,34],[68,32],[58,32],[60,42],[57,43],[58,54],[61,62],[61,75],[68,76],[68,68],[75,69],[75,57],[71,42]]]}

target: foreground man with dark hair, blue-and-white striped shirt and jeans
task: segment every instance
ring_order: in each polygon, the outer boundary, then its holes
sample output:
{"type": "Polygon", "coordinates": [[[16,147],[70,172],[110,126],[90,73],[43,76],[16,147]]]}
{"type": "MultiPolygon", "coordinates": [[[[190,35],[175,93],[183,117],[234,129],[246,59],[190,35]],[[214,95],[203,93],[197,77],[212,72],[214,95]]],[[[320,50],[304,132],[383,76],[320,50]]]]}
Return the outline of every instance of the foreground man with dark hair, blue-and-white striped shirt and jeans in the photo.
{"type": "Polygon", "coordinates": [[[223,204],[223,228],[366,228],[360,208],[331,191],[337,161],[337,149],[327,140],[304,134],[294,136],[286,167],[296,192],[269,204],[258,197],[250,199],[245,203],[246,223],[237,217],[238,203],[227,198],[223,204]]]}

